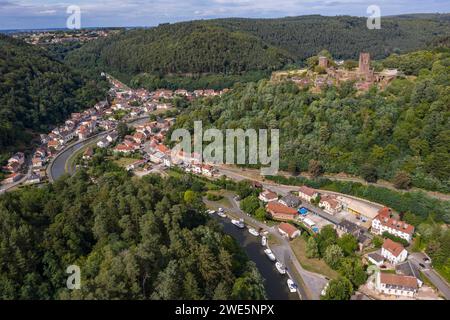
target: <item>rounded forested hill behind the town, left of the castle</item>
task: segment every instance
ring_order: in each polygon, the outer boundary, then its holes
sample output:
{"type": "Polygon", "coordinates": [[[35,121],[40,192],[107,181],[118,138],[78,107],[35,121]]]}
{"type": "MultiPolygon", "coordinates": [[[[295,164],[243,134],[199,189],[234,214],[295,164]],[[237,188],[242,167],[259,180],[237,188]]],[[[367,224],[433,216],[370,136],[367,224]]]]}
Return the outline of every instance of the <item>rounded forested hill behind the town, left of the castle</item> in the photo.
{"type": "Polygon", "coordinates": [[[240,74],[275,70],[292,61],[287,52],[255,36],[207,22],[132,30],[93,41],[71,52],[70,64],[104,68],[130,77],[150,74],[240,74]]]}

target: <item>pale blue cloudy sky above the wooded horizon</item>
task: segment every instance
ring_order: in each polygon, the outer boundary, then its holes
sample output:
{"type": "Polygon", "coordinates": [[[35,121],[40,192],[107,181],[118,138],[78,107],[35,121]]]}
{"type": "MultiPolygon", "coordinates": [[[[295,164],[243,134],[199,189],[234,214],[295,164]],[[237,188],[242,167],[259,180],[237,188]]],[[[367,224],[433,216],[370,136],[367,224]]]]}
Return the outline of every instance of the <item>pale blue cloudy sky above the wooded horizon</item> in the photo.
{"type": "Polygon", "coordinates": [[[0,0],[0,29],[64,28],[67,7],[81,8],[82,27],[153,26],[220,17],[272,18],[305,14],[367,16],[450,12],[450,0],[0,0]]]}

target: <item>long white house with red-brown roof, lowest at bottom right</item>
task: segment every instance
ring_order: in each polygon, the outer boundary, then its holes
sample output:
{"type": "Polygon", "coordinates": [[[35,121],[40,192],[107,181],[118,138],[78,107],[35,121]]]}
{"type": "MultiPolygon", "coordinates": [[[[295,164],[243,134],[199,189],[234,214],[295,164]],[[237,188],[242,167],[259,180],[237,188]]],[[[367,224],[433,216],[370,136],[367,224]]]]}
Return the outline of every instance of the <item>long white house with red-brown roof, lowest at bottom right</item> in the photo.
{"type": "Polygon", "coordinates": [[[376,289],[383,294],[412,298],[417,293],[419,285],[415,277],[377,272],[376,289]]]}

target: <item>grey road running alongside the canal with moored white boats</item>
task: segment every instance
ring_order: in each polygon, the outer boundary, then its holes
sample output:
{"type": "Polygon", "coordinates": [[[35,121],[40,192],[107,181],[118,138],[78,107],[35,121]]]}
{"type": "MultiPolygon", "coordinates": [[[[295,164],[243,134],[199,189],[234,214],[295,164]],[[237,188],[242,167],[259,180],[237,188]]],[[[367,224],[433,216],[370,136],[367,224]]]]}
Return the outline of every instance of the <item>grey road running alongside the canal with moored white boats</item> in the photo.
{"type": "MultiPolygon", "coordinates": [[[[325,284],[328,282],[325,276],[305,270],[297,260],[297,257],[292,251],[289,242],[283,236],[280,235],[280,233],[275,227],[269,227],[266,224],[258,220],[255,220],[254,218],[245,214],[240,209],[239,204],[236,202],[236,200],[234,200],[233,196],[225,195],[225,197],[227,197],[228,201],[232,204],[232,208],[229,210],[232,211],[234,215],[244,219],[247,223],[250,223],[254,227],[268,231],[269,234],[273,235],[277,239],[277,243],[279,245],[273,246],[271,249],[277,256],[278,260],[284,265],[290,265],[290,263],[288,262],[291,261],[295,266],[295,268],[297,269],[298,274],[300,274],[300,276],[302,277],[303,282],[305,283],[306,286],[306,288],[303,288],[300,284],[298,284],[299,293],[302,299],[304,300],[320,299],[320,293],[322,292],[322,289],[325,287],[325,284]]],[[[204,201],[207,204],[214,205],[214,202],[208,201],[206,199],[204,201]]]]}

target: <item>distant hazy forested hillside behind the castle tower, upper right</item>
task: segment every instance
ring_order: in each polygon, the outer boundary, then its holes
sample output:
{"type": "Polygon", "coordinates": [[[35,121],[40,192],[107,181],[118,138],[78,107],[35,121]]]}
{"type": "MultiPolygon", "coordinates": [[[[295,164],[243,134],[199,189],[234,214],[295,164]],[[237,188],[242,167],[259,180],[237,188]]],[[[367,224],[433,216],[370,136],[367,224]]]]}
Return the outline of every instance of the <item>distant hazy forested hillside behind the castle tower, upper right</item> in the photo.
{"type": "Polygon", "coordinates": [[[381,59],[390,53],[423,48],[432,39],[449,35],[450,15],[404,15],[382,17],[381,29],[370,30],[367,18],[319,15],[282,19],[221,19],[212,23],[249,32],[273,46],[304,60],[321,49],[338,59],[356,59],[370,52],[381,59]]]}

